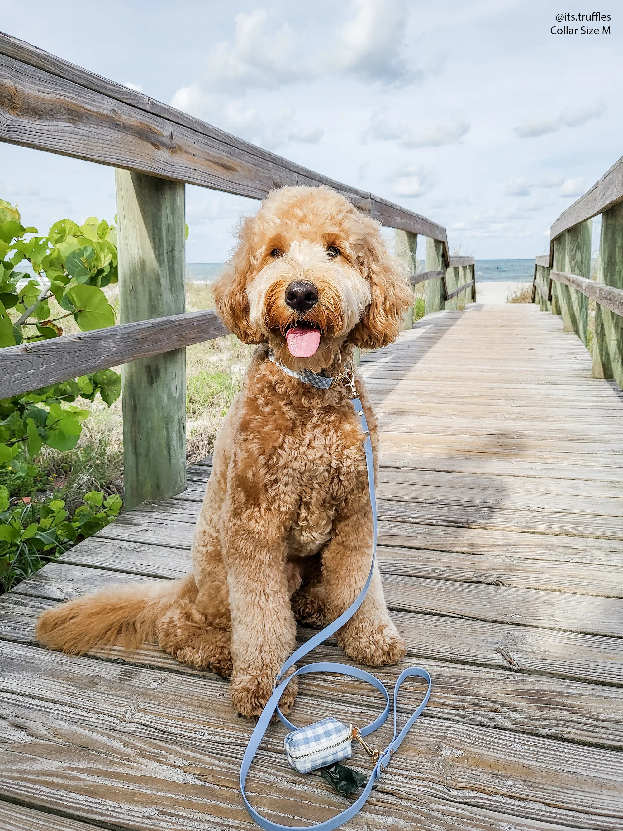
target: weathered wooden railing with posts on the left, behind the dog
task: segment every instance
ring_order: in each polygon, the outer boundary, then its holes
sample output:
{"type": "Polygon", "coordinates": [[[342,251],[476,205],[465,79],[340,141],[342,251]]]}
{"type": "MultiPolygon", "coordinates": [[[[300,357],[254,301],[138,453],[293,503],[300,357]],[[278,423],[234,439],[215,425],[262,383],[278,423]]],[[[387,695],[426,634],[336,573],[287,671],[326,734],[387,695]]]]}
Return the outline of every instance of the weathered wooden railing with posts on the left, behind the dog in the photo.
{"type": "Polygon", "coordinates": [[[116,169],[120,326],[2,349],[0,397],[125,364],[129,508],[184,490],[184,347],[228,333],[212,311],[184,313],[186,183],[255,199],[326,184],[396,229],[411,273],[417,236],[427,238],[427,272],[412,278],[427,281],[426,312],[459,307],[470,287],[475,299],[473,258],[450,257],[439,224],[2,33],[0,140],[116,169]]]}

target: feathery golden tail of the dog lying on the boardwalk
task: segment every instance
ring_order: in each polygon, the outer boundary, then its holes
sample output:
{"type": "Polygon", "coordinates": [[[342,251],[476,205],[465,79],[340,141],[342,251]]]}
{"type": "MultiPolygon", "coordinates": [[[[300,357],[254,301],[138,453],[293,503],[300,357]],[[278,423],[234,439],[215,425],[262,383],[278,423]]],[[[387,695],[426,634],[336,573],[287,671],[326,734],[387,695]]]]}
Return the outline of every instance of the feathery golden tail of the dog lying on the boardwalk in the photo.
{"type": "Polygon", "coordinates": [[[43,612],[37,621],[37,639],[68,655],[112,644],[135,649],[153,641],[160,618],[175,602],[196,593],[192,574],[182,580],[111,586],[43,612]]]}

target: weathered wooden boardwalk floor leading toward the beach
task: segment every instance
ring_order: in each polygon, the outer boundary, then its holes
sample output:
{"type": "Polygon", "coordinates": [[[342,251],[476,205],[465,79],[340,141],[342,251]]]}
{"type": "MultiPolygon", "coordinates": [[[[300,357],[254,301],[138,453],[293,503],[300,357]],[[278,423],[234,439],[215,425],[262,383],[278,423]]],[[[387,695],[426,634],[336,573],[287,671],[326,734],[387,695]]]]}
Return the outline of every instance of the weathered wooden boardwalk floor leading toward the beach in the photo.
{"type": "MultiPolygon", "coordinates": [[[[379,675],[425,666],[433,695],[346,827],[623,828],[623,393],[528,305],[425,317],[362,366],[382,429],[381,570],[409,643],[379,675]]],[[[257,828],[238,793],[252,724],[226,681],[156,647],[67,657],[33,638],[76,593],[185,573],[209,472],[0,597],[0,828],[257,828]]],[[[362,689],[303,681],[293,717],[368,721],[379,699],[362,689]]],[[[252,801],[285,824],[327,819],[346,799],[290,770],[282,735],[252,801]]]]}

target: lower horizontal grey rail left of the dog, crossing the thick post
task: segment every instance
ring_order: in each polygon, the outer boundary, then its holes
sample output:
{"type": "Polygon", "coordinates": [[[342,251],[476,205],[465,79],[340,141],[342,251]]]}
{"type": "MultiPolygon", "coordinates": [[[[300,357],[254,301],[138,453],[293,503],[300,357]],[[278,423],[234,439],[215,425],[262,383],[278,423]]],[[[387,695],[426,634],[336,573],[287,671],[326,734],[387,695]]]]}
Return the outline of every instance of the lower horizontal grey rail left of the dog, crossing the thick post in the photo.
{"type": "Polygon", "coordinates": [[[2,350],[2,396],[211,341],[230,332],[216,312],[169,315],[2,350]]]}

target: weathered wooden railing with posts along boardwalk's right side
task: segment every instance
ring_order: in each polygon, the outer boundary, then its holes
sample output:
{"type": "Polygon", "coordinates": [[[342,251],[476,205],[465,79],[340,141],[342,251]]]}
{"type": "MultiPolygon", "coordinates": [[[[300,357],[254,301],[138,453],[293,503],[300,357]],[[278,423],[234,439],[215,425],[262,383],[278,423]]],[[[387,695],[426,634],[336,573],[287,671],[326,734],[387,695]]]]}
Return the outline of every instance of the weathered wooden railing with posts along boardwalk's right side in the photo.
{"type": "Polygon", "coordinates": [[[534,265],[532,302],[562,316],[588,341],[588,301],[596,302],[593,376],[623,386],[623,158],[552,225],[550,253],[534,265]],[[591,279],[591,219],[601,214],[599,268],[591,279]]]}

